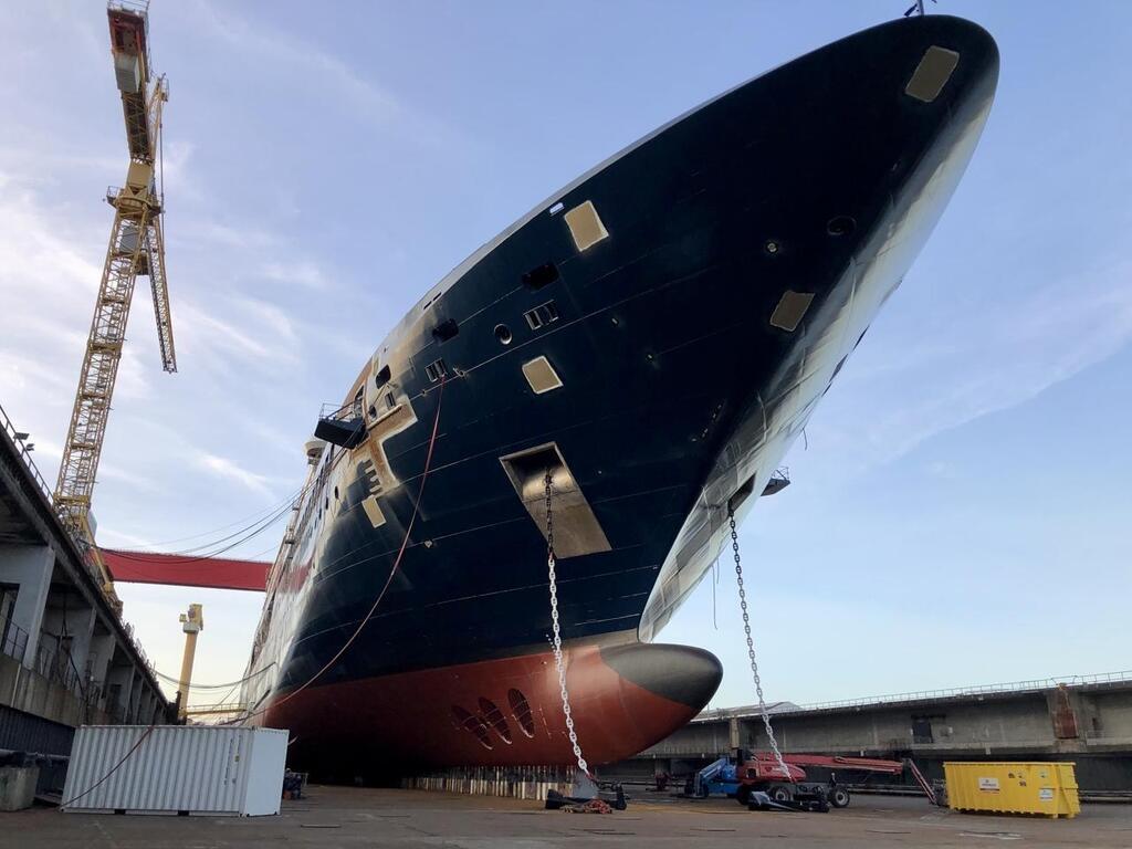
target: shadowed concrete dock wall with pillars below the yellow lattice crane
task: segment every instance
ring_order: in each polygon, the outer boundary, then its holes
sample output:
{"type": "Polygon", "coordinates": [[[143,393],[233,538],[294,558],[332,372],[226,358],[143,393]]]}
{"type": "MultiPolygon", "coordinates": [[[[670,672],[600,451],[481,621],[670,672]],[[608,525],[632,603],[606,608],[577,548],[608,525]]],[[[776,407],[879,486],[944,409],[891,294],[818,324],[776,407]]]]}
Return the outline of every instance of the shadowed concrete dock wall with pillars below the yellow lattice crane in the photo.
{"type": "Polygon", "coordinates": [[[7,748],[66,755],[41,721],[149,723],[169,703],[16,437],[0,409],[0,720],[7,748]]]}

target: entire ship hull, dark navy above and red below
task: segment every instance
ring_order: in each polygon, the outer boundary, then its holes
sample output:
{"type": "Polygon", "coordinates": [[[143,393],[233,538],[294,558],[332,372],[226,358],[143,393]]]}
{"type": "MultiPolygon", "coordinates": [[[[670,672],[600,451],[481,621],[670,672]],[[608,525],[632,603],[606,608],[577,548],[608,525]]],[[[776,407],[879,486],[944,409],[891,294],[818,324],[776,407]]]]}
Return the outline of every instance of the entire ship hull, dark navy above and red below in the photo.
{"type": "Polygon", "coordinates": [[[728,509],[766,490],[931,233],[996,77],[967,22],[850,36],[661,128],[431,290],[346,395],[358,439],[311,454],[249,666],[254,721],[307,757],[569,762],[546,471],[583,747],[616,760],[693,715],[718,664],[670,655],[688,683],[674,702],[601,658],[660,657],[646,643],[728,509]],[[511,689],[544,738],[491,737],[480,700],[514,726],[511,689]]]}

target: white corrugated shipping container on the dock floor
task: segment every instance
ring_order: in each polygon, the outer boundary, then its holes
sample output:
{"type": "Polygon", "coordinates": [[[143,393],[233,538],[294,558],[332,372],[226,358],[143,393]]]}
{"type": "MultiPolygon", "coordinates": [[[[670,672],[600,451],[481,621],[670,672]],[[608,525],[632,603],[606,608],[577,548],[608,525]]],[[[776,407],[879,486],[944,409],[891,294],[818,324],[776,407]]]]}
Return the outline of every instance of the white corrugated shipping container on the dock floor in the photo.
{"type": "Polygon", "coordinates": [[[277,814],[286,743],[288,732],[274,728],[83,726],[75,732],[62,808],[277,814]]]}

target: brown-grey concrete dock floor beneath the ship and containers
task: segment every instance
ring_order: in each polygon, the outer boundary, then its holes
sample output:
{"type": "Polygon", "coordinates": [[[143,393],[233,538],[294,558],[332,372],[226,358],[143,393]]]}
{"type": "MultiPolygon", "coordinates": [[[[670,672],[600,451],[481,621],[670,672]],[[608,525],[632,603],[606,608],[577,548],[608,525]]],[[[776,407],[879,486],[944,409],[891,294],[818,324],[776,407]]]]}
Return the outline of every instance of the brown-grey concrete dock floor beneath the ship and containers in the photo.
{"type": "Polygon", "coordinates": [[[36,807],[0,814],[0,847],[231,849],[232,847],[640,846],[710,849],[781,841],[809,847],[1132,847],[1132,806],[1088,805],[1075,820],[979,816],[918,798],[858,796],[829,814],[753,813],[731,800],[649,799],[607,815],[540,803],[420,790],[312,787],[280,816],[114,816],[36,807]]]}

